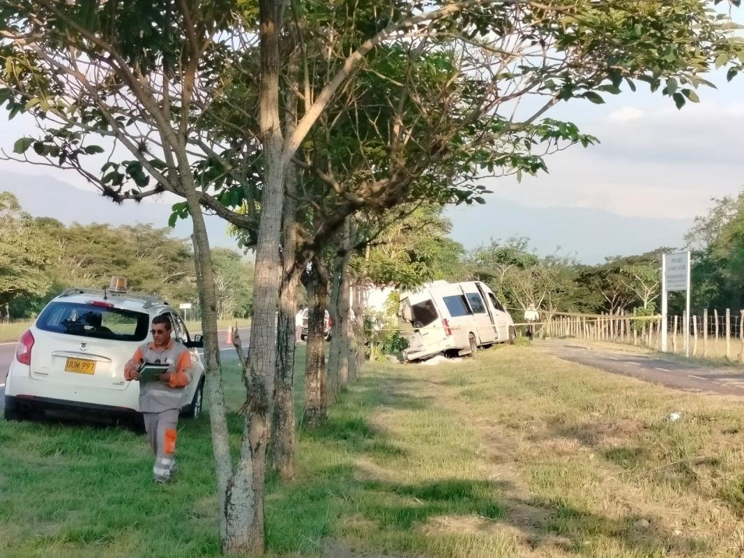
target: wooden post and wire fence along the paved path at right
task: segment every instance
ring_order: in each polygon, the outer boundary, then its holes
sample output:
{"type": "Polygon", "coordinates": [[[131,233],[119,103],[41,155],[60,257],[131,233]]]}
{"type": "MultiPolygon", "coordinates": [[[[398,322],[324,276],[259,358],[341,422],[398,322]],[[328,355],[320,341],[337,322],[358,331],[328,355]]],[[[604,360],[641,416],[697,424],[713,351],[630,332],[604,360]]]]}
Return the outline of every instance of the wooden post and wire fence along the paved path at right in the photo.
{"type": "MultiPolygon", "coordinates": [[[[744,310],[702,310],[699,314],[667,316],[667,352],[685,353],[685,324],[689,326],[690,356],[744,362],[744,310]]],[[[525,324],[516,324],[525,325],[525,324]]],[[[533,323],[535,335],[611,341],[661,350],[661,315],[579,314],[541,312],[533,323]]]]}

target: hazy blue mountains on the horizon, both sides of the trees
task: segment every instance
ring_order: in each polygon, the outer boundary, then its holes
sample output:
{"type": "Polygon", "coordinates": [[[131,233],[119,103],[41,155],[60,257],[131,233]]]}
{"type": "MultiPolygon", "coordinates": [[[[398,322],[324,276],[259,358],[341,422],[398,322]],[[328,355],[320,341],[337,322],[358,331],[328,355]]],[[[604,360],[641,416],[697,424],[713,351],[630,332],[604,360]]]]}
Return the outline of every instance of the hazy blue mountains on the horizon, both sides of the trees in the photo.
{"type": "MultiPolygon", "coordinates": [[[[167,227],[173,202],[146,200],[140,204],[116,205],[94,190],[81,190],[51,176],[31,176],[2,172],[0,190],[19,199],[34,217],[54,217],[65,224],[105,222],[133,225],[137,222],[167,227]]],[[[560,246],[562,253],[575,254],[584,263],[600,263],[606,256],[639,254],[659,246],[681,246],[692,219],[644,219],[623,217],[591,208],[531,208],[491,195],[485,205],[449,208],[452,238],[466,248],[506,240],[512,236],[530,237],[539,254],[551,254],[560,246]]],[[[205,216],[212,246],[235,248],[227,225],[219,217],[205,216]]],[[[180,220],[176,237],[190,237],[190,220],[180,220]]]]}

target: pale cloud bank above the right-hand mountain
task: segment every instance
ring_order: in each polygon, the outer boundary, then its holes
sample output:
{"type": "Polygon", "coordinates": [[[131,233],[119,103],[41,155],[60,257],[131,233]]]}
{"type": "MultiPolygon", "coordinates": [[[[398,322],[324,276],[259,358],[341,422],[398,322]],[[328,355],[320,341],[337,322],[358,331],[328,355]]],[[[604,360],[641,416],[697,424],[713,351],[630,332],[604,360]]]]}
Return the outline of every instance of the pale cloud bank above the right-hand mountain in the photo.
{"type": "MultiPolygon", "coordinates": [[[[744,185],[741,103],[700,103],[678,111],[668,103],[615,106],[574,115],[601,143],[551,155],[550,172],[487,179],[496,198],[537,208],[594,208],[625,217],[689,219],[712,197],[744,185]]],[[[570,118],[570,115],[569,115],[570,118]]]]}

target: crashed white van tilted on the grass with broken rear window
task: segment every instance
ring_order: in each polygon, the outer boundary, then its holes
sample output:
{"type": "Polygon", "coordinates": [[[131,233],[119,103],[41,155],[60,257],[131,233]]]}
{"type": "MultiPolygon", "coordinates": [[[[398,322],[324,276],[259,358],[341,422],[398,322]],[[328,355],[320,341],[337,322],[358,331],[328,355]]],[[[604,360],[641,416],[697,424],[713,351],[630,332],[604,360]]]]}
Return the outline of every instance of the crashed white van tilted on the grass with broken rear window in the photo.
{"type": "Polygon", "coordinates": [[[405,360],[439,353],[474,354],[478,347],[513,342],[514,322],[493,291],[481,281],[434,281],[400,295],[400,317],[414,333],[405,360]]]}

